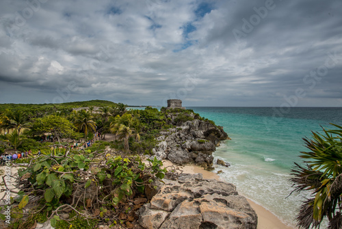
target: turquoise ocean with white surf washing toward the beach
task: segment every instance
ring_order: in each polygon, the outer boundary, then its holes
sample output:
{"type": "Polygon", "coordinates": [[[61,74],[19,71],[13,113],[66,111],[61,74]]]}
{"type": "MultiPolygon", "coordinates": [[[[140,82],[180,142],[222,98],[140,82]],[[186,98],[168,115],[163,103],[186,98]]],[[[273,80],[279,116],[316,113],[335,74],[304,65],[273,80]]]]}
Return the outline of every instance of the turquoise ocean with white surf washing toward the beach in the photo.
{"type": "Polygon", "coordinates": [[[214,161],[220,158],[231,164],[215,165],[215,171],[224,171],[222,180],[295,227],[297,209],[310,195],[289,196],[291,167],[302,162],[300,152],[306,151],[302,138],[311,138],[311,131],[322,132],[321,126],[334,128],[329,123],[342,125],[342,108],[188,108],[223,126],[231,138],[213,153],[214,161]]]}

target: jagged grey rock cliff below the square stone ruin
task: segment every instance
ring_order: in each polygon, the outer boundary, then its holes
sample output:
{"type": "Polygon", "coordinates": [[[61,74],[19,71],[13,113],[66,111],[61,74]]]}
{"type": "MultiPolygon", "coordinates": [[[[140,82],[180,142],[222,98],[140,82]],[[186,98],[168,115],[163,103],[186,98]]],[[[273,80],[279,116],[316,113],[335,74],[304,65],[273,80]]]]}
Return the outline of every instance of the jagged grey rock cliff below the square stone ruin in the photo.
{"type": "MultiPolygon", "coordinates": [[[[194,114],[187,114],[194,119],[194,114]]],[[[153,153],[158,160],[168,159],[178,165],[196,163],[205,169],[213,169],[212,152],[220,141],[229,139],[223,128],[211,121],[194,119],[192,121],[179,121],[177,114],[168,114],[171,122],[177,125],[168,131],[160,132],[157,138],[159,144],[153,153]]]]}

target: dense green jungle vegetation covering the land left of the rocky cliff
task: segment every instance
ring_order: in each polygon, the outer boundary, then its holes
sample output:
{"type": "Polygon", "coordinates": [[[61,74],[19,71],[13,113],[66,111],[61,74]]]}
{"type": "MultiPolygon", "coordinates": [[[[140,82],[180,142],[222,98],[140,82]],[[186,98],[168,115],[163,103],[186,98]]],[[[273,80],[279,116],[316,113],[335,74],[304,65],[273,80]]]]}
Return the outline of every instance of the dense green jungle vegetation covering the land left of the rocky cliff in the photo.
{"type": "MultiPolygon", "coordinates": [[[[152,154],[161,130],[194,119],[203,120],[192,110],[127,110],[101,100],[0,104],[0,154],[28,152],[11,162],[23,168],[18,169],[19,191],[8,204],[11,224],[4,225],[34,228],[51,221],[55,228],[135,227],[135,213],[148,202],[153,182],[166,173],[176,176],[156,158],[142,156],[152,154]]],[[[0,218],[6,220],[4,214],[0,218]]]]}

